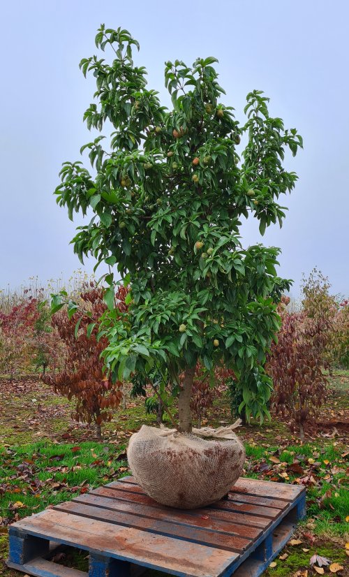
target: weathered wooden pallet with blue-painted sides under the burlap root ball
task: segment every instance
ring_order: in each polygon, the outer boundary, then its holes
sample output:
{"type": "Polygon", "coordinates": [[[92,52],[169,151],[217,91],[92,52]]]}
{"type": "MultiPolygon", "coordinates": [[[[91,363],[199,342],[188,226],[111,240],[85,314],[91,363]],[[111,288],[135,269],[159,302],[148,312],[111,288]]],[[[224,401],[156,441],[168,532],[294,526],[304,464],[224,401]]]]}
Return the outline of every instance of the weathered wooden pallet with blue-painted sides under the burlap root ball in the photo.
{"type": "Polygon", "coordinates": [[[89,577],[151,568],[186,577],[257,577],[305,514],[305,489],[239,479],[205,509],[161,506],[132,477],[10,526],[8,566],[38,577],[85,577],[50,561],[52,546],[89,552],[89,577]],[[54,543],[52,543],[52,541],[54,543]]]}

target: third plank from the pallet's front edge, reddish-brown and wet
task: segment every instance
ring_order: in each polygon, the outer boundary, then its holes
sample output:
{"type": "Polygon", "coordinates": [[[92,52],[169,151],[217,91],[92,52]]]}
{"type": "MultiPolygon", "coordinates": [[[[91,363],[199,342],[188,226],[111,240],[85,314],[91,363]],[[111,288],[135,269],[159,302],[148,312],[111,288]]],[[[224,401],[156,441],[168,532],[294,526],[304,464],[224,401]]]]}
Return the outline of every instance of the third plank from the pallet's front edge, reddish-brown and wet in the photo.
{"type": "MultiPolygon", "coordinates": [[[[233,515],[233,519],[221,520],[212,518],[205,513],[191,514],[187,511],[180,511],[179,509],[161,509],[158,507],[150,507],[147,505],[142,505],[139,503],[130,503],[126,501],[121,501],[120,499],[110,499],[109,497],[102,497],[100,495],[91,495],[91,493],[85,493],[79,497],[75,497],[73,502],[80,502],[87,505],[95,506],[99,509],[110,509],[110,511],[123,511],[124,513],[131,513],[134,516],[141,516],[147,518],[156,518],[163,520],[170,520],[171,523],[179,523],[180,525],[188,525],[189,527],[203,527],[205,529],[210,529],[211,531],[218,531],[228,534],[237,534],[242,537],[247,537],[248,539],[255,539],[262,529],[260,527],[248,527],[248,525],[240,525],[237,523],[236,518],[239,516],[233,515]]],[[[116,518],[116,517],[115,517],[116,518]]]]}

